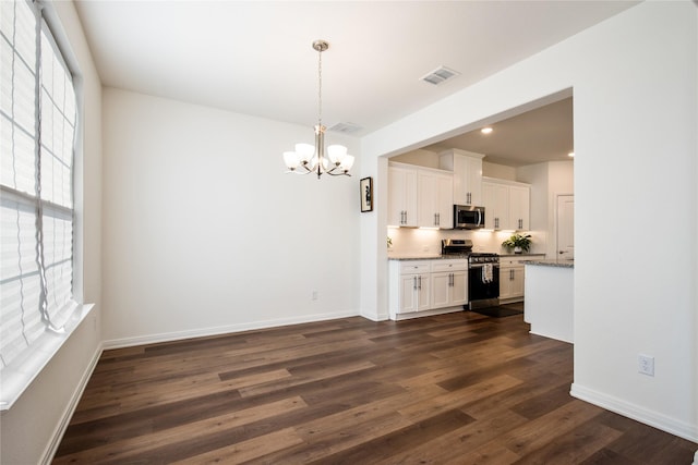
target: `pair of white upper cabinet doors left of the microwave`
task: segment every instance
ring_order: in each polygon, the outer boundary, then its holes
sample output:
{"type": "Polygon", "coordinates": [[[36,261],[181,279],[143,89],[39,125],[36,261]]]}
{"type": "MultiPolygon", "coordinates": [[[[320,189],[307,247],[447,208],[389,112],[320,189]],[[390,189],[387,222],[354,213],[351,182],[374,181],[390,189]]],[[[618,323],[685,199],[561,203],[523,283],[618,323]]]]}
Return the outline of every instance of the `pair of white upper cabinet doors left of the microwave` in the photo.
{"type": "Polygon", "coordinates": [[[388,166],[388,224],[453,229],[453,174],[409,164],[388,166]]]}

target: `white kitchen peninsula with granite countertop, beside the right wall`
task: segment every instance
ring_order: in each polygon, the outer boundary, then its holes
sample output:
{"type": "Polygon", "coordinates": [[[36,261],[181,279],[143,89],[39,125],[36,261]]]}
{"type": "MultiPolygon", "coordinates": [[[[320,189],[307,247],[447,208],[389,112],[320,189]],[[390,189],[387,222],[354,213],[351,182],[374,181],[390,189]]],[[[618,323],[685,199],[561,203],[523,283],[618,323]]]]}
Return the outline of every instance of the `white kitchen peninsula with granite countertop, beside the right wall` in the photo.
{"type": "Polygon", "coordinates": [[[526,262],[524,320],[531,333],[574,342],[574,260],[526,262]]]}

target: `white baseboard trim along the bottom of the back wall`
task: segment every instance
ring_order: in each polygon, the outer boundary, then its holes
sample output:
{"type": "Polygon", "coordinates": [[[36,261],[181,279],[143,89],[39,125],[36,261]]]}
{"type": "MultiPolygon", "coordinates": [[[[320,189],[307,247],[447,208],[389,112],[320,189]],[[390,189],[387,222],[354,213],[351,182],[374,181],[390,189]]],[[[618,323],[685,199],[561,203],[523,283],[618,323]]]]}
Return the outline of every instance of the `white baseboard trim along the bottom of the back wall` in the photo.
{"type": "Polygon", "coordinates": [[[221,327],[201,328],[188,331],[165,332],[159,334],[139,335],[134,338],[112,339],[103,341],[103,348],[131,347],[142,344],[155,344],[158,342],[180,341],[192,338],[204,338],[209,335],[227,334],[256,329],[276,328],[288,325],[300,325],[314,321],[334,320],[339,318],[358,317],[359,311],[340,311],[332,314],[304,315],[291,318],[279,318],[274,320],[252,321],[249,323],[227,325],[221,327]]]}

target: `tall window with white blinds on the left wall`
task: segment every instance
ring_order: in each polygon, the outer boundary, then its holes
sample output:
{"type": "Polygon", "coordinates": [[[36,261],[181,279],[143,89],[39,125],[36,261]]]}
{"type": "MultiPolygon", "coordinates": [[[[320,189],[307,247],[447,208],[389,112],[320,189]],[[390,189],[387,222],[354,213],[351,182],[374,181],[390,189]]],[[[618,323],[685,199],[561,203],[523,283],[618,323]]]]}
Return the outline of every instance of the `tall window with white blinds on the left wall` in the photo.
{"type": "Polygon", "coordinates": [[[76,99],[40,4],[26,0],[0,4],[0,406],[4,409],[12,402],[8,396],[19,396],[10,393],[20,389],[13,375],[28,366],[40,370],[37,350],[45,351],[47,340],[60,339],[79,307],[72,292],[76,99]]]}

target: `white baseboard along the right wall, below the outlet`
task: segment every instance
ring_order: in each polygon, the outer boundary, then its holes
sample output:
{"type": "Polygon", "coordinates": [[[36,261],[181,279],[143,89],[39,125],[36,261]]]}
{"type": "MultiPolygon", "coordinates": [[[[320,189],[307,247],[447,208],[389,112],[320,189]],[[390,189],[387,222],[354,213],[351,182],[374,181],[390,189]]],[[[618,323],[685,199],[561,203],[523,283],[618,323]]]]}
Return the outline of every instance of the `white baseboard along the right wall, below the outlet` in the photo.
{"type": "MultiPolygon", "coordinates": [[[[661,429],[662,431],[666,431],[671,435],[678,436],[679,438],[684,438],[688,441],[698,442],[698,428],[696,425],[678,421],[674,418],[645,408],[641,405],[631,404],[622,399],[613,397],[579,384],[573,383],[569,393],[574,397],[589,402],[590,404],[594,404],[625,417],[633,418],[634,420],[661,429]]],[[[698,458],[698,452],[696,453],[696,458],[698,458]]],[[[694,465],[698,465],[696,460],[694,460],[694,465]]]]}

